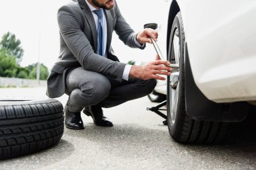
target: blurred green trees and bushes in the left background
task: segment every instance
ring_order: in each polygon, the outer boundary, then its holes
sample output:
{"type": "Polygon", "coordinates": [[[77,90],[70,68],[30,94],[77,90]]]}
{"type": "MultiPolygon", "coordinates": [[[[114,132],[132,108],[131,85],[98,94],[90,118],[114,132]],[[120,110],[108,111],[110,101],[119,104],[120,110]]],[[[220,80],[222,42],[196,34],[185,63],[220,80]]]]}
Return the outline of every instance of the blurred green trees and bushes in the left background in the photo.
{"type": "MultiPolygon", "coordinates": [[[[15,37],[15,34],[10,32],[4,34],[0,42],[0,77],[36,79],[37,63],[21,67],[23,54],[21,41],[15,37]]],[[[40,80],[46,80],[48,75],[49,69],[40,64],[40,80]]]]}

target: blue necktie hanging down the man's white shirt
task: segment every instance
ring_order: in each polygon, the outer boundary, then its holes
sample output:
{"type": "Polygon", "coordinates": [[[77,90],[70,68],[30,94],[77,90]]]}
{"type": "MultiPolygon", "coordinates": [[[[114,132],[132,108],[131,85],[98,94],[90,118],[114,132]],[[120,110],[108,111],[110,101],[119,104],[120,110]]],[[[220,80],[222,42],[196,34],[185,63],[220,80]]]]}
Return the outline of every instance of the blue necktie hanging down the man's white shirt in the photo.
{"type": "Polygon", "coordinates": [[[98,15],[98,49],[97,54],[104,56],[104,37],[103,37],[103,9],[93,11],[98,15]]]}

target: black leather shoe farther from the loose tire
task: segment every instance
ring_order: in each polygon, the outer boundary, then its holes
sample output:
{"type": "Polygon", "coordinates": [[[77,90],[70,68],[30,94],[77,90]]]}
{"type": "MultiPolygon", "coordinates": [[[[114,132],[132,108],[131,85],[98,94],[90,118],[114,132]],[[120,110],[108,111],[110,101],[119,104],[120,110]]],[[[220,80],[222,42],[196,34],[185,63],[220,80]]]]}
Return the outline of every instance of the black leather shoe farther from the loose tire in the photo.
{"type": "Polygon", "coordinates": [[[83,112],[87,116],[92,116],[94,124],[96,124],[97,126],[113,126],[113,123],[110,122],[110,120],[108,120],[108,118],[103,115],[102,108],[99,106],[92,105],[90,107],[86,107],[84,108],[83,112]]]}

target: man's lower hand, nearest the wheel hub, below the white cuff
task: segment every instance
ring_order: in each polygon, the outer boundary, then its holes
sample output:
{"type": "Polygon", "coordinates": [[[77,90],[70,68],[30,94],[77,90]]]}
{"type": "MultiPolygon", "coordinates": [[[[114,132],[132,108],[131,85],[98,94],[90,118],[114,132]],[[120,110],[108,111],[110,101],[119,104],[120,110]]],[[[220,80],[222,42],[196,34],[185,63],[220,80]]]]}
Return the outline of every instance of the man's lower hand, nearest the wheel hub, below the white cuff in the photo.
{"type": "Polygon", "coordinates": [[[133,65],[131,67],[129,77],[143,80],[165,80],[165,77],[161,77],[160,75],[170,75],[170,71],[172,71],[172,69],[168,67],[168,65],[170,65],[168,60],[154,60],[143,66],[133,65]]]}

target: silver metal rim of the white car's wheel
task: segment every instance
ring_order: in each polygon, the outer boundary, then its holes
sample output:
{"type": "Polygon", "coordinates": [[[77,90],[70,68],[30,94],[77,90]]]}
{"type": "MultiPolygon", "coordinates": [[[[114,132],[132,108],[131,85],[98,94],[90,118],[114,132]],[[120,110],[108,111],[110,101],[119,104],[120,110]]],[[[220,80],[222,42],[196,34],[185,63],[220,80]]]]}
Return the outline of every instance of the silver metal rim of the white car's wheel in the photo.
{"type": "MultiPolygon", "coordinates": [[[[179,58],[180,58],[180,38],[179,38],[179,30],[176,28],[174,36],[172,38],[172,52],[171,54],[174,56],[171,56],[172,62],[174,64],[179,64],[179,58]]],[[[176,72],[173,72],[172,75],[170,75],[170,82],[169,82],[169,89],[170,89],[170,95],[169,95],[169,105],[170,105],[170,120],[171,123],[174,124],[176,120],[177,115],[177,104],[178,104],[178,98],[179,98],[179,70],[176,72]]]]}

